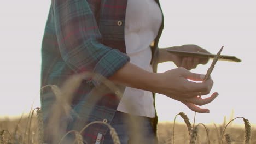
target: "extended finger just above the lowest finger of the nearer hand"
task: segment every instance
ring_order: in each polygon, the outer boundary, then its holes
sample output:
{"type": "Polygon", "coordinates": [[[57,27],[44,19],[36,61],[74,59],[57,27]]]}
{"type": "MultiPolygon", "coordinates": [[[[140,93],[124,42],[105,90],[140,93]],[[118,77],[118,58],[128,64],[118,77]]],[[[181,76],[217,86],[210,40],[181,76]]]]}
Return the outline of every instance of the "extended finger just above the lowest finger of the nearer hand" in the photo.
{"type": "Polygon", "coordinates": [[[193,97],[193,98],[187,99],[187,101],[195,105],[205,105],[205,104],[211,103],[218,95],[219,95],[218,93],[213,93],[211,97],[208,97],[205,99],[202,99],[200,97],[193,97]]]}

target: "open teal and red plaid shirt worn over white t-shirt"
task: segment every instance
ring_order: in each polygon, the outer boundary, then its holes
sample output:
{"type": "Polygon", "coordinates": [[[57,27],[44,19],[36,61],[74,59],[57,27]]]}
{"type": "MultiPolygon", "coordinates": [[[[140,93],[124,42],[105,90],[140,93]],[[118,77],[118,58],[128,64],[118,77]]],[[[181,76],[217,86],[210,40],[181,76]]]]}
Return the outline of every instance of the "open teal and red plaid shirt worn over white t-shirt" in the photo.
{"type": "MultiPolygon", "coordinates": [[[[124,39],[126,5],[127,0],[52,0],[42,43],[42,87],[49,84],[61,87],[68,77],[83,72],[109,77],[129,62],[124,39]]],[[[162,24],[152,46],[154,72],[163,27],[162,24]]],[[[124,86],[118,87],[124,91],[124,86]]],[[[54,101],[51,89],[45,88],[41,93],[45,125],[54,101]]],[[[68,123],[67,130],[81,130],[93,121],[110,123],[119,101],[97,78],[84,80],[72,99],[75,115],[62,121],[68,123]]],[[[156,122],[157,118],[155,130],[156,122]]],[[[102,143],[107,130],[102,124],[93,124],[82,134],[88,143],[102,143]]],[[[50,142],[48,136],[45,139],[50,142]]]]}

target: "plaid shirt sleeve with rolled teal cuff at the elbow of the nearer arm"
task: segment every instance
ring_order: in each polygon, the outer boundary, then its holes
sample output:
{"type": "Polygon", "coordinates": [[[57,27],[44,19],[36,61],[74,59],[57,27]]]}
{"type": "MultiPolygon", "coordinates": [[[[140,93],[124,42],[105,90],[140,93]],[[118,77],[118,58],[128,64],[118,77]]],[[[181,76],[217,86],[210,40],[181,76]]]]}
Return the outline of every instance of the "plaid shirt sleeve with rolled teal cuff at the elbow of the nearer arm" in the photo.
{"type": "Polygon", "coordinates": [[[53,0],[52,8],[57,43],[67,65],[77,73],[90,71],[109,77],[130,58],[101,43],[102,36],[95,18],[99,2],[53,0]]]}

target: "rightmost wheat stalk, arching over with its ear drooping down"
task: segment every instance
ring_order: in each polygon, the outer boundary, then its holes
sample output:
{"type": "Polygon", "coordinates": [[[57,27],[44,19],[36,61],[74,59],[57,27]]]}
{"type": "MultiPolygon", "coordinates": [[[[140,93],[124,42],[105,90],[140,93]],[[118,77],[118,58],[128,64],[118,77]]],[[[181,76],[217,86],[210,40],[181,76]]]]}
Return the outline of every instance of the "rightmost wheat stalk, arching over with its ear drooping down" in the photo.
{"type": "Polygon", "coordinates": [[[224,138],[224,134],[225,134],[225,130],[226,130],[226,127],[228,127],[228,125],[234,121],[235,119],[237,118],[243,118],[243,122],[245,123],[245,143],[246,144],[249,144],[249,141],[251,139],[251,125],[249,123],[249,120],[248,119],[245,119],[244,117],[236,117],[234,119],[232,119],[228,124],[226,124],[223,132],[222,132],[222,139],[221,139],[221,144],[223,143],[223,138],[224,138]]]}

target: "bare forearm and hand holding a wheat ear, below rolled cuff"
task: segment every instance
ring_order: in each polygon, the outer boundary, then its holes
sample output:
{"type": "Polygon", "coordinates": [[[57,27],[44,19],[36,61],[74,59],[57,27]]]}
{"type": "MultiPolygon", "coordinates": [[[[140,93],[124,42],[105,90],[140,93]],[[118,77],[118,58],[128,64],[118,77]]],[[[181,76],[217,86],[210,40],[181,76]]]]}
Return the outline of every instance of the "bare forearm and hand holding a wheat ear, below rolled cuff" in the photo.
{"type": "Polygon", "coordinates": [[[196,105],[208,104],[217,97],[218,93],[213,93],[211,97],[205,99],[198,97],[210,93],[213,86],[212,79],[200,83],[188,81],[188,79],[202,81],[204,77],[205,75],[191,73],[185,68],[176,68],[165,73],[151,73],[127,63],[109,79],[119,85],[164,94],[181,101],[193,111],[205,113],[209,110],[201,109],[196,105]]]}

